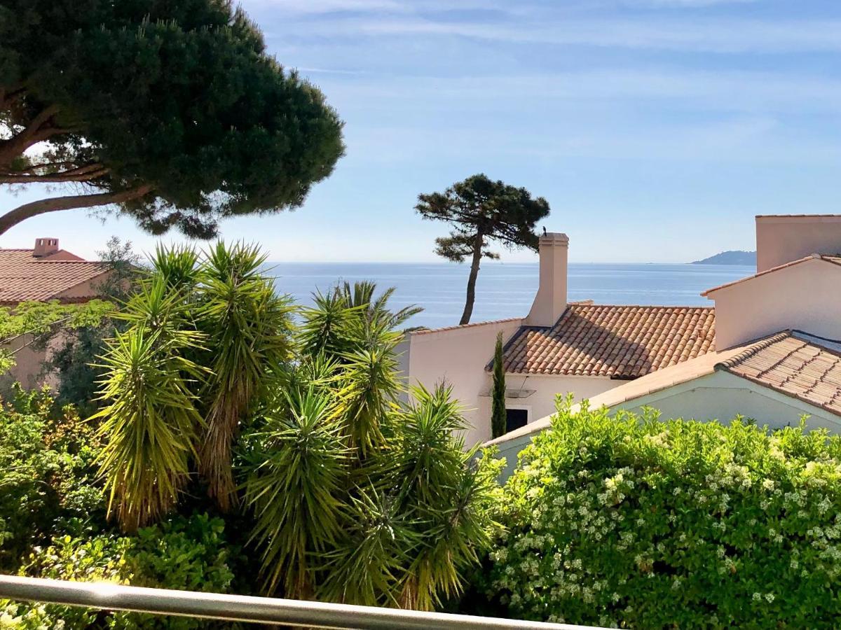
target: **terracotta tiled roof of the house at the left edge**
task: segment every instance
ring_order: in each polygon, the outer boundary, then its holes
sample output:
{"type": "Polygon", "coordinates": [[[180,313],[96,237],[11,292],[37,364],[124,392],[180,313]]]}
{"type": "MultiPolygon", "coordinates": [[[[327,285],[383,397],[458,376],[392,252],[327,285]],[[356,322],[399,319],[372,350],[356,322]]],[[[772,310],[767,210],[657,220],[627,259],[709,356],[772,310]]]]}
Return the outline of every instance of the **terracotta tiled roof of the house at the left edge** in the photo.
{"type": "MultiPolygon", "coordinates": [[[[98,262],[82,260],[64,249],[42,258],[34,258],[32,249],[0,249],[0,305],[61,299],[64,291],[103,273],[98,262]]],[[[84,297],[72,299],[78,302],[84,297]]]]}

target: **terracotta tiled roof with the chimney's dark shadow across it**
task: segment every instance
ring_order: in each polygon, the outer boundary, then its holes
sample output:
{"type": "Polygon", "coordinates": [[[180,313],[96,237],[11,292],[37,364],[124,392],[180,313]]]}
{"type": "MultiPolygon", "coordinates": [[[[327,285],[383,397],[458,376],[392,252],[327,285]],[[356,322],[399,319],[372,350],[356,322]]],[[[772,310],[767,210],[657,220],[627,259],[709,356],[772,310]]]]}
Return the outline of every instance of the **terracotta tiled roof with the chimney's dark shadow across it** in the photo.
{"type": "Polygon", "coordinates": [[[505,371],[633,379],[711,352],[711,307],[570,304],[552,328],[524,326],[505,371]]]}

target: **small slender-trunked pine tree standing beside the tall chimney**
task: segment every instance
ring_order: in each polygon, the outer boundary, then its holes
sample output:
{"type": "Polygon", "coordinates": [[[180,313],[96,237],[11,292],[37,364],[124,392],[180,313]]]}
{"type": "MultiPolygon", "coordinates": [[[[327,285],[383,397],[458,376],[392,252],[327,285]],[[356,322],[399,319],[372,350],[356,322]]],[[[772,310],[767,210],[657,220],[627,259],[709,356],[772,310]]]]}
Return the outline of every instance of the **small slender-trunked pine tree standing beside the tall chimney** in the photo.
{"type": "Polygon", "coordinates": [[[452,262],[470,259],[467,302],[461,324],[469,323],[482,258],[498,259],[489,249],[496,241],[508,249],[537,250],[535,225],[549,214],[543,197],[532,199],[525,188],[493,181],[484,173],[458,181],[444,192],[418,195],[415,210],[422,218],[452,226],[449,236],[436,239],[435,253],[452,262]]]}

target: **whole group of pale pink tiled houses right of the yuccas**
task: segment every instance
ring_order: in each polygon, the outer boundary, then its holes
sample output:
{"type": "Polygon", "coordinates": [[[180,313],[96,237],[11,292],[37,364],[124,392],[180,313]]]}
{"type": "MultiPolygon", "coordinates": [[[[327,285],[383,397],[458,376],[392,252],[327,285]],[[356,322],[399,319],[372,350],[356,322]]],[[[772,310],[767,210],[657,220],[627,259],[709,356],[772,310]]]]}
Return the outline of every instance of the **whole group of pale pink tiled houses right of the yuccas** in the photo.
{"type": "Polygon", "coordinates": [[[446,380],[471,409],[468,443],[490,438],[489,361],[505,339],[516,452],[548,426],[556,394],[669,417],[737,414],[782,426],[807,414],[841,427],[841,216],[760,216],[757,273],[703,295],[715,307],[609,306],[566,299],[563,234],[540,239],[540,286],[526,318],[411,333],[405,370],[446,380]]]}

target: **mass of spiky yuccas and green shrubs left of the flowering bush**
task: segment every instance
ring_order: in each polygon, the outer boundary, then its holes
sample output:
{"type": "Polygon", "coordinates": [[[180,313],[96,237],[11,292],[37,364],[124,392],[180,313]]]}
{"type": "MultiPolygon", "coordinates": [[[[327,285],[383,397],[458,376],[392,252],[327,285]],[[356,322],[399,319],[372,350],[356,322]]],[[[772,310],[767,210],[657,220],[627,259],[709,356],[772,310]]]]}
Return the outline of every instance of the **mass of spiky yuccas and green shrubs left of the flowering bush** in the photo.
{"type": "MultiPolygon", "coordinates": [[[[343,284],[300,308],[254,247],[158,250],[109,314],[121,325],[98,360],[98,412],[21,390],[3,405],[2,569],[452,601],[498,528],[500,463],[464,449],[446,386],[409,391],[399,377],[399,328],[418,309],[389,308],[391,294],[343,284]]],[[[19,627],[210,627],[3,606],[19,627]]]]}

